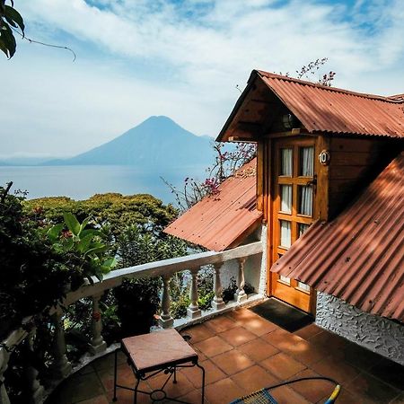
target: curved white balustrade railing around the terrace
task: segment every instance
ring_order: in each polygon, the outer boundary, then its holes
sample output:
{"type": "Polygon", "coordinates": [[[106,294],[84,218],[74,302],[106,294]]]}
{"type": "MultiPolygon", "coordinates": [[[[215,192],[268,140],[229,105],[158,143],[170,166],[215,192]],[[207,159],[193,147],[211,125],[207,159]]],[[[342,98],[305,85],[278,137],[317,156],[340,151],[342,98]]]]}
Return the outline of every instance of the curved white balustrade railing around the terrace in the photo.
{"type": "MultiPolygon", "coordinates": [[[[53,357],[52,364],[54,380],[49,383],[47,391],[39,382],[39,371],[33,367],[26,370],[27,379],[30,383],[31,389],[31,402],[40,403],[45,400],[48,393],[53,390],[58,382],[61,382],[69,374],[79,370],[83,365],[88,364],[93,359],[103,356],[111,350],[116,349],[117,345],[107,347],[104,339],[102,338],[102,321],[100,316],[99,303],[102,294],[111,288],[122,284],[124,279],[136,279],[145,277],[162,277],[162,312],[160,314],[159,325],[162,328],[182,328],[193,322],[203,321],[204,319],[217,315],[220,312],[229,310],[230,308],[250,303],[252,300],[263,298],[262,295],[255,294],[247,296],[244,292],[244,264],[246,259],[251,256],[262,253],[262,242],[253,242],[233,250],[225,250],[223,252],[202,252],[198,254],[180,257],[177,259],[164,259],[162,261],[150,262],[136,267],[117,269],[110,272],[100,282],[94,278],[92,285],[83,285],[75,292],[66,295],[66,300],[63,306],[66,307],[72,303],[83,299],[84,297],[92,298],[92,338],[89,344],[89,352],[83,356],[79,365],[73,368],[69,363],[66,356],[66,341],[65,329],[63,325],[63,310],[61,306],[57,306],[51,311],[51,318],[54,325],[53,332],[53,357]],[[221,269],[224,263],[235,260],[238,265],[237,273],[234,274],[237,279],[237,291],[234,295],[233,302],[224,303],[222,299],[222,285],[221,285],[221,269]],[[208,311],[201,311],[198,307],[198,272],[206,265],[213,265],[215,268],[214,273],[214,293],[215,297],[212,301],[212,309],[208,311]],[[170,279],[177,272],[184,270],[190,271],[190,290],[189,290],[189,307],[187,310],[187,317],[175,320],[170,312],[170,279]]],[[[26,319],[30,322],[30,319],[26,319]]],[[[10,404],[10,400],[4,384],[4,372],[7,369],[8,360],[10,355],[13,354],[13,349],[20,344],[26,344],[28,349],[33,350],[33,340],[35,338],[35,328],[31,327],[29,331],[27,328],[15,329],[8,338],[4,339],[0,345],[0,404],[10,404]]]]}

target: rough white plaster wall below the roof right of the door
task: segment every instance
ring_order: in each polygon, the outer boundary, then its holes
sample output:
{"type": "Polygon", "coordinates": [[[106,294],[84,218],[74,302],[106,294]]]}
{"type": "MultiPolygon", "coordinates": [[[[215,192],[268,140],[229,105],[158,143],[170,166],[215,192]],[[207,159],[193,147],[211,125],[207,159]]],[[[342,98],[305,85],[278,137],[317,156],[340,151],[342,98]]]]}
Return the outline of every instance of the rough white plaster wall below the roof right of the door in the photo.
{"type": "Polygon", "coordinates": [[[329,294],[317,294],[316,324],[404,364],[404,325],[362,312],[329,294]]]}

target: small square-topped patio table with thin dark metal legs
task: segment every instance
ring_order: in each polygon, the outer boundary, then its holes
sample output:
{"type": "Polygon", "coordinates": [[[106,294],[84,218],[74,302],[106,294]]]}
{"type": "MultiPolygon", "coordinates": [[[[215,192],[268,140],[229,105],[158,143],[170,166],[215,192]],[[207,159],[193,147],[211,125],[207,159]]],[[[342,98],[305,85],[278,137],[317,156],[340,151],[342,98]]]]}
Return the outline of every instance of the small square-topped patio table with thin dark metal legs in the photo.
{"type": "Polygon", "coordinates": [[[172,400],[185,402],[168,397],[164,388],[173,376],[177,382],[177,369],[198,366],[202,371],[202,404],[205,400],[205,369],[198,364],[198,354],[188,342],[184,340],[176,329],[164,329],[150,334],[124,338],[121,341],[121,350],[127,356],[127,363],[136,376],[135,388],[118,384],[118,351],[115,351],[114,398],[117,400],[117,388],[134,391],[134,403],[137,402],[137,393],[148,394],[152,402],[172,400]],[[155,376],[166,373],[167,380],[160,389],[152,392],[138,389],[139,383],[155,376]]]}

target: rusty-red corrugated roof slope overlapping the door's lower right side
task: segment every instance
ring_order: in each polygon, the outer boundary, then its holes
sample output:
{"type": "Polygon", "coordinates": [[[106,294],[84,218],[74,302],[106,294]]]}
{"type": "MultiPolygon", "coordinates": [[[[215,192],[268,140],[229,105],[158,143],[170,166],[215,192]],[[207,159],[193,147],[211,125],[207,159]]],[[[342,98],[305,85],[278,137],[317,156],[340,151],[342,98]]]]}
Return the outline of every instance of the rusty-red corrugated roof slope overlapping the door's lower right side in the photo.
{"type": "Polygon", "coordinates": [[[404,322],[404,153],[332,222],[316,222],[271,271],[404,322]]]}

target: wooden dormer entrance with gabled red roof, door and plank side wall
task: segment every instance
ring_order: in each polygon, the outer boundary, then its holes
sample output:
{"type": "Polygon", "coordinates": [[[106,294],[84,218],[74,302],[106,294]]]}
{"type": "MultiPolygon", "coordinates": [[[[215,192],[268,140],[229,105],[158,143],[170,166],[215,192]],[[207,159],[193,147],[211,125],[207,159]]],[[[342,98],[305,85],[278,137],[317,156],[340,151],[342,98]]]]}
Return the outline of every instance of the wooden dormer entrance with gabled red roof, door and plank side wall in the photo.
{"type": "MultiPolygon", "coordinates": [[[[218,141],[257,142],[268,268],[316,220],[331,221],[400,153],[404,97],[254,70],[218,141]]],[[[315,314],[315,290],[268,271],[268,294],[315,314]]]]}

